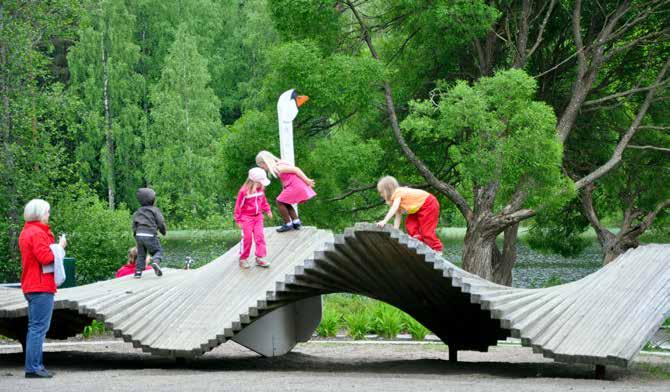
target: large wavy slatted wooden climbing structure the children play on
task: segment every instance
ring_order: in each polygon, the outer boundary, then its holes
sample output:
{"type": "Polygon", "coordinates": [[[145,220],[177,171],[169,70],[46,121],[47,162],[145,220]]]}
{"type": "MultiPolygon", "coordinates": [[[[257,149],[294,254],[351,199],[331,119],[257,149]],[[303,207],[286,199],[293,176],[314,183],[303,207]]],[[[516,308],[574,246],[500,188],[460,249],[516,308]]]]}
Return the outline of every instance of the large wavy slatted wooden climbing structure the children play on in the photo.
{"type": "MultiPolygon", "coordinates": [[[[519,289],[467,273],[389,227],[358,224],[335,237],[269,229],[266,239],[267,270],[240,270],[236,246],[197,270],[60,290],[50,336],[72,336],[96,318],[154,354],[200,355],[233,339],[281,355],[318,324],[315,298],[347,292],[404,310],[454,352],[486,351],[512,336],[557,361],[627,366],[670,316],[670,245],[630,250],[576,282],[519,289]],[[289,316],[274,316],[291,306],[289,316]],[[289,336],[281,349],[257,343],[278,333],[289,336]]],[[[26,310],[19,290],[0,289],[0,334],[18,337],[26,310]]]]}

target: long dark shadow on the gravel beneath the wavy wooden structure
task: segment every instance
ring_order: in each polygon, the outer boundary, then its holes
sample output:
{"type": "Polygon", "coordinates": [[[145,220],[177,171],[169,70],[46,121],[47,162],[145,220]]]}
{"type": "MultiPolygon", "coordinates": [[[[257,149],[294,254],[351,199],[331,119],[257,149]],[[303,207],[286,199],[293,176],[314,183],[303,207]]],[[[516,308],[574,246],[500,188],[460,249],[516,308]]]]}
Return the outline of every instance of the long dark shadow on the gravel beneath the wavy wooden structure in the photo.
{"type": "MultiPolygon", "coordinates": [[[[187,371],[270,371],[377,373],[408,375],[483,375],[501,378],[573,378],[593,379],[592,366],[532,362],[458,362],[443,359],[364,360],[332,358],[291,352],[282,357],[265,358],[249,355],[208,356],[175,360],[144,353],[101,353],[84,351],[45,352],[44,362],[54,371],[103,371],[170,369],[187,371]]],[[[22,367],[20,353],[0,355],[0,367],[22,367]]],[[[608,368],[607,380],[634,375],[634,369],[608,368]]]]}

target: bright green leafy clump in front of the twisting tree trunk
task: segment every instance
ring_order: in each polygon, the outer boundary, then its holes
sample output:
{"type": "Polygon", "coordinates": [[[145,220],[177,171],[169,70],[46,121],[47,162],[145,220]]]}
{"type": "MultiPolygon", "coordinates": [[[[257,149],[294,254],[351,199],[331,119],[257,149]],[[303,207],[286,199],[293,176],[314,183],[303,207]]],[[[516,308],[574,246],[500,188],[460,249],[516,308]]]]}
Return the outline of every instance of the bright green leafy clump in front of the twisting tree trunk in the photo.
{"type": "Polygon", "coordinates": [[[435,100],[416,101],[402,127],[423,143],[451,142],[448,159],[458,163],[464,184],[499,181],[497,200],[506,203],[517,187],[526,189],[526,206],[536,207],[562,192],[562,147],[556,117],[533,101],[535,80],[521,70],[442,85],[435,100]]]}

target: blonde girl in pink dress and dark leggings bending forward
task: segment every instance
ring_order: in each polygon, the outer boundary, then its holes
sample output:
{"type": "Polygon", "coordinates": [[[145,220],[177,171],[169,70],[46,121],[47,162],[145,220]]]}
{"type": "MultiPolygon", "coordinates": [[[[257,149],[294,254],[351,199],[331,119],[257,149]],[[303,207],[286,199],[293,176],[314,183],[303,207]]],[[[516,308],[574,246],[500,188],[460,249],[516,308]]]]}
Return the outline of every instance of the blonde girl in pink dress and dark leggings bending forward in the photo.
{"type": "Polygon", "coordinates": [[[284,224],[277,229],[277,232],[300,229],[302,222],[293,204],[304,203],[316,196],[316,192],[312,189],[314,180],[308,178],[299,167],[280,160],[268,151],[261,151],[256,155],[256,164],[273,177],[278,177],[284,188],[277,196],[277,207],[284,219],[284,224]]]}

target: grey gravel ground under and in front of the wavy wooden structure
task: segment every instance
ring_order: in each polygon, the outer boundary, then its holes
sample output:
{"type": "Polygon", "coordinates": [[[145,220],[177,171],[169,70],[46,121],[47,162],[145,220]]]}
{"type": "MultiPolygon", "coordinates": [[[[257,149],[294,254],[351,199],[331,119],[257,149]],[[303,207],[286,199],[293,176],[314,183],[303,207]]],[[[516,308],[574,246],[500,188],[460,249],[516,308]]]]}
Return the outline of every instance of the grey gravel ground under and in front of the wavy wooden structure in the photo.
{"type": "Polygon", "coordinates": [[[629,369],[554,363],[528,348],[492,347],[447,361],[443,344],[309,342],[279,358],[262,358],[233,342],[186,363],[152,357],[119,341],[46,348],[51,380],[23,377],[16,346],[0,344],[0,391],[663,391],[670,357],[640,355],[629,369]]]}

